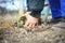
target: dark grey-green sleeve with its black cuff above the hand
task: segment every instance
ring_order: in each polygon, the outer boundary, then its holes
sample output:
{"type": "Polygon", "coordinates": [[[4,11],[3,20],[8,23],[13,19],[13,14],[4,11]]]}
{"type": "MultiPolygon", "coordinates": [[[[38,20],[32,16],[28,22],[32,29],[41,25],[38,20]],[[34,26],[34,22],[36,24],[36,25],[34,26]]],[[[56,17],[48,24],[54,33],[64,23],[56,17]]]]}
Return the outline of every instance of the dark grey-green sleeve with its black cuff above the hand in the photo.
{"type": "Polygon", "coordinates": [[[34,17],[40,17],[43,5],[44,0],[27,0],[27,11],[31,11],[30,15],[34,17]]]}

